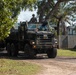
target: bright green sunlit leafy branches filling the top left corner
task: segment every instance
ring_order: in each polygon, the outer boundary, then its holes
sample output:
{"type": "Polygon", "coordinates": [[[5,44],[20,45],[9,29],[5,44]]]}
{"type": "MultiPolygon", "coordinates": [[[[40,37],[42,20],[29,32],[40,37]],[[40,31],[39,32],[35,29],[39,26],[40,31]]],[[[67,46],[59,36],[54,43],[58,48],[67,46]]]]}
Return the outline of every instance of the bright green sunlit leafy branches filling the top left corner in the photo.
{"type": "Polygon", "coordinates": [[[21,10],[33,6],[35,0],[0,0],[0,40],[10,33],[21,10]]]}

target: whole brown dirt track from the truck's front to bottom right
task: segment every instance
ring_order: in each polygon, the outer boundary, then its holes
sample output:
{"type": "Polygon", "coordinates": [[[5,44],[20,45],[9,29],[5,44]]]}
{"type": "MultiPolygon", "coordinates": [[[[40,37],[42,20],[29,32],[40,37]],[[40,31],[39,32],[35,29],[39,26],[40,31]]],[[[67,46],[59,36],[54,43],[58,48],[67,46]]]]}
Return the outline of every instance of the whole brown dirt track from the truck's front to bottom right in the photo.
{"type": "MultiPolygon", "coordinates": [[[[61,58],[63,59],[64,57],[61,58]]],[[[74,63],[76,59],[71,58],[70,60],[67,58],[66,60],[66,58],[64,58],[64,60],[62,60],[61,58],[24,61],[32,62],[43,67],[43,70],[37,75],[76,75],[76,64],[74,63]]]]}

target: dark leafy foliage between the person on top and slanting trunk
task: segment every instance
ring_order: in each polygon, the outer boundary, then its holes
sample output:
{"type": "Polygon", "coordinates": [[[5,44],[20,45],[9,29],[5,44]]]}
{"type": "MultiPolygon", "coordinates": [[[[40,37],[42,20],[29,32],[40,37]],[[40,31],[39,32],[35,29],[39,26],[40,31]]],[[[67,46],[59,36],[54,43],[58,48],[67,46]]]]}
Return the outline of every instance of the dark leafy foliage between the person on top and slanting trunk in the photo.
{"type": "Polygon", "coordinates": [[[37,14],[39,15],[39,22],[42,22],[44,17],[52,10],[55,5],[54,0],[41,0],[36,3],[38,8],[37,14]]]}

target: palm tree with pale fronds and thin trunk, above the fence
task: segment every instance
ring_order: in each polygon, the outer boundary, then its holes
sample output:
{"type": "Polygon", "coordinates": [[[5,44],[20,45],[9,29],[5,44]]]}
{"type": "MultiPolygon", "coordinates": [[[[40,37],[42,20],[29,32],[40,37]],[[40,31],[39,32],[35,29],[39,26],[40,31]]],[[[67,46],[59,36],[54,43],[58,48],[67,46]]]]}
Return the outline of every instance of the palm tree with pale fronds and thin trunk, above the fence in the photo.
{"type": "MultiPolygon", "coordinates": [[[[74,13],[75,13],[75,7],[76,7],[76,2],[74,3],[74,2],[62,2],[61,4],[60,4],[60,7],[59,7],[59,9],[57,10],[57,13],[56,13],[56,15],[54,15],[54,17],[56,18],[56,19],[58,19],[58,22],[57,22],[57,35],[59,35],[59,26],[60,26],[60,24],[61,25],[64,25],[65,24],[65,22],[67,22],[67,23],[69,23],[69,24],[71,24],[70,23],[70,17],[74,17],[74,13]]],[[[66,34],[66,32],[65,32],[65,26],[64,26],[64,34],[66,34]]]]}

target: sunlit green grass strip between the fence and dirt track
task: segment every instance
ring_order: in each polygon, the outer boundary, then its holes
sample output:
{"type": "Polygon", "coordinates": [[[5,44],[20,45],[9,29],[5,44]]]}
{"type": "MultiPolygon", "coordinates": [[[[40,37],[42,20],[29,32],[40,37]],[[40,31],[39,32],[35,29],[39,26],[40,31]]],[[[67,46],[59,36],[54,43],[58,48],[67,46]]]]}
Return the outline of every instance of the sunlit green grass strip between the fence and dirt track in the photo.
{"type": "Polygon", "coordinates": [[[58,49],[58,56],[76,57],[76,50],[58,49]]]}

